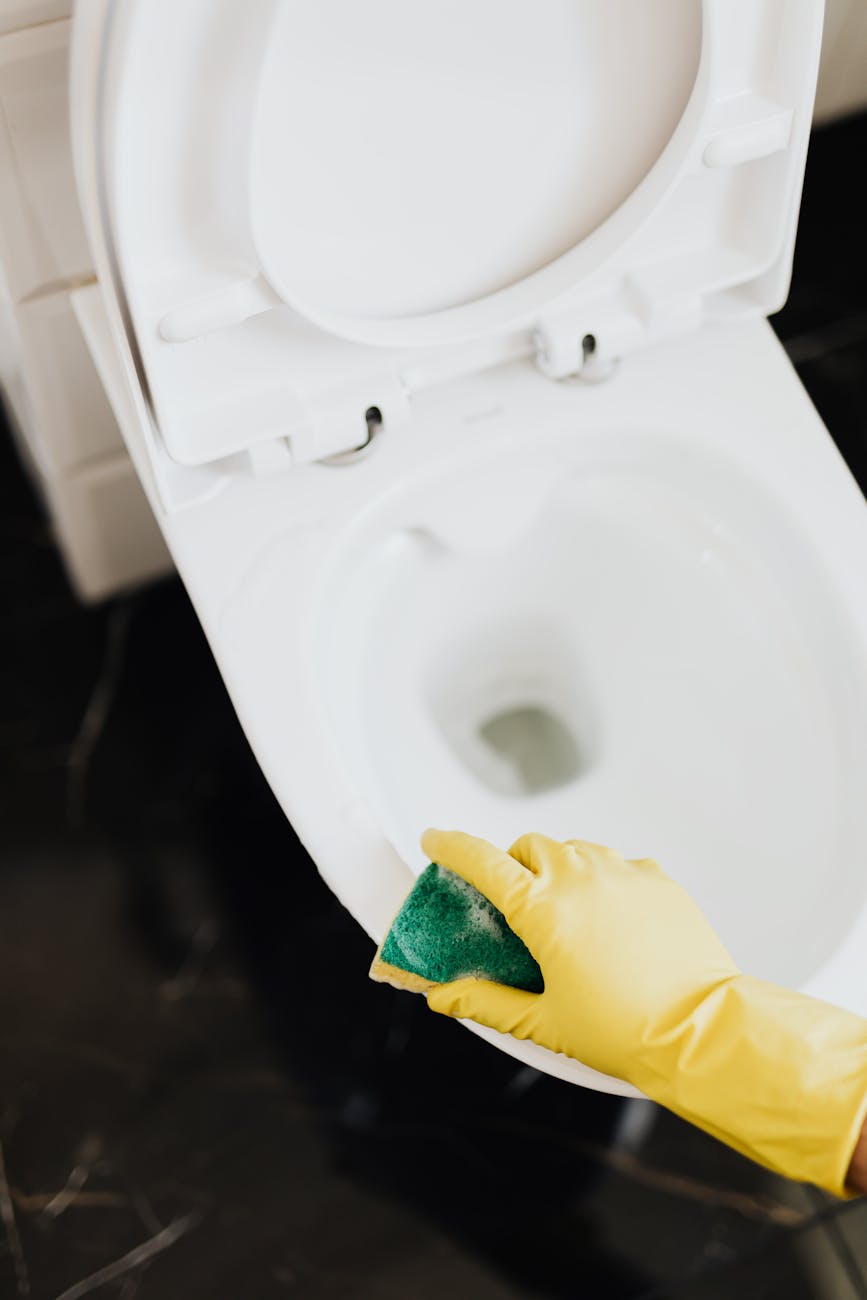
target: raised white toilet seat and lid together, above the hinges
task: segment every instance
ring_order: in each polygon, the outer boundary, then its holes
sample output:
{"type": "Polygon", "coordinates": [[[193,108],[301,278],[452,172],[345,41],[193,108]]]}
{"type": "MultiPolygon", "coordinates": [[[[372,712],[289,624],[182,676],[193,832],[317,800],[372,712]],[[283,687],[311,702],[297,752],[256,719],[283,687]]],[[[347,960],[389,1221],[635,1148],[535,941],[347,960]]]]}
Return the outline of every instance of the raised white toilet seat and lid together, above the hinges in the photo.
{"type": "Polygon", "coordinates": [[[500,358],[560,377],[588,337],[776,308],[822,12],[107,5],[99,202],[168,455],[317,459],[500,358]]]}

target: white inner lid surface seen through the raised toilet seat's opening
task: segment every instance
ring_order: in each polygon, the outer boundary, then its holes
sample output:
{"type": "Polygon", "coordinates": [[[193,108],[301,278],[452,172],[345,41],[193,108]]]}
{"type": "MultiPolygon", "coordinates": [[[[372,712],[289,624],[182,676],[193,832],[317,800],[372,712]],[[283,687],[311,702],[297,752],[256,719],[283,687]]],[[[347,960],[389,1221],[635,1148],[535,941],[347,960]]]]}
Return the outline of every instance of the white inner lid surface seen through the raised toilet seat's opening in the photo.
{"type": "Polygon", "coordinates": [[[266,278],[351,333],[525,281],[647,176],[699,51],[695,0],[279,5],[251,139],[266,278]]]}

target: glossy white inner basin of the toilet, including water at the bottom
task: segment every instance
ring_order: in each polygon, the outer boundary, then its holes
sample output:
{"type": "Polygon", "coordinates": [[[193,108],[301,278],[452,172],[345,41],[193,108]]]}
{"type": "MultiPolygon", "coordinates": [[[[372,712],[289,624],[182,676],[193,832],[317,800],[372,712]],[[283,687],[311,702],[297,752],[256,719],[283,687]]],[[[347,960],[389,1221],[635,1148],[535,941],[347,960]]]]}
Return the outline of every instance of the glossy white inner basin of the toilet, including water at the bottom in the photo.
{"type": "Polygon", "coordinates": [[[356,779],[407,861],[429,822],[659,857],[745,968],[803,984],[867,888],[845,607],[716,454],[627,433],[547,454],[550,495],[502,549],[407,526],[412,493],[347,541],[320,640],[356,779]]]}

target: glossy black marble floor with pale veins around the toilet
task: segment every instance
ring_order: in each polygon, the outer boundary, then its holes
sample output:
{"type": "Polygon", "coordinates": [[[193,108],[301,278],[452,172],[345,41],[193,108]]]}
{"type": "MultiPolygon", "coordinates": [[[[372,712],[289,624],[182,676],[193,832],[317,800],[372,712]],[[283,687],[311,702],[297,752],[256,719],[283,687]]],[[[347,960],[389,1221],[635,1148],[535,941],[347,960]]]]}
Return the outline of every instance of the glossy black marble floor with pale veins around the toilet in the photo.
{"type": "MultiPolygon", "coordinates": [[[[862,484],[866,143],[777,317],[862,484]]],[[[867,1297],[867,1204],[372,985],[179,585],[83,610],[8,442],[0,499],[1,1297],[867,1297]]]]}

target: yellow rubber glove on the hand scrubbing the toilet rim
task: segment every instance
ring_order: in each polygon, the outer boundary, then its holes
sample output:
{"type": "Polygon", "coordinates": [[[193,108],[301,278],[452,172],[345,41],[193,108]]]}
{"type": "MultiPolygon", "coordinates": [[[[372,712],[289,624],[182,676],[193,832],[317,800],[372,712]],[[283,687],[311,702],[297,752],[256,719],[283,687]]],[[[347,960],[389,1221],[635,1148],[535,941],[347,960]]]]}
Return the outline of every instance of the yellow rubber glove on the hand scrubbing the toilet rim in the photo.
{"type": "Polygon", "coordinates": [[[543,993],[442,984],[434,1011],[627,1079],[768,1169],[846,1195],[867,1020],[742,975],[651,859],[542,835],[508,853],[456,831],[428,831],[422,845],[500,909],[545,978],[543,993]]]}

